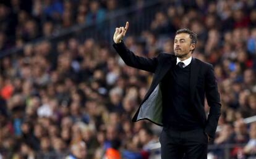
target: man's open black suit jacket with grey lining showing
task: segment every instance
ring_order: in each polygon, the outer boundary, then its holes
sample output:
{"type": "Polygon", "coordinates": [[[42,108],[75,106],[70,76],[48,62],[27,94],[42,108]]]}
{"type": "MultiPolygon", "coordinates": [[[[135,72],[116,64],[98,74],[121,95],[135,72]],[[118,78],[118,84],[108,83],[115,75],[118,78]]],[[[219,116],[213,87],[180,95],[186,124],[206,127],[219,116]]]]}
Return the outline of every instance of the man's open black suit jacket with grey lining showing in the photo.
{"type": "MultiPolygon", "coordinates": [[[[139,57],[129,51],[124,43],[113,44],[114,49],[121,56],[122,60],[130,67],[154,73],[150,89],[145,95],[142,104],[135,113],[132,121],[150,120],[151,122],[163,126],[162,124],[162,96],[161,80],[167,71],[171,69],[172,63],[176,62],[174,54],[160,53],[153,59],[139,57]]],[[[200,117],[202,125],[208,136],[214,137],[221,114],[220,94],[215,80],[213,66],[209,63],[192,58],[190,69],[190,99],[200,117]],[[208,118],[205,115],[204,99],[207,97],[210,112],[208,118]]]]}

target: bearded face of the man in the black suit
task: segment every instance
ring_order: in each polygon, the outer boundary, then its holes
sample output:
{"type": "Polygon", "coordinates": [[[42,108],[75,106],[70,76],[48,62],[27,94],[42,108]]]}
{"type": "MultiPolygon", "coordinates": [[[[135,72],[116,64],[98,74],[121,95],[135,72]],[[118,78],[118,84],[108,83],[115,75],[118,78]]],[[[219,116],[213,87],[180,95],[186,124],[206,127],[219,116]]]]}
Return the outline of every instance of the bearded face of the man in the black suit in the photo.
{"type": "Polygon", "coordinates": [[[180,59],[187,59],[191,56],[195,44],[192,44],[189,34],[179,33],[174,38],[174,54],[180,59]]]}

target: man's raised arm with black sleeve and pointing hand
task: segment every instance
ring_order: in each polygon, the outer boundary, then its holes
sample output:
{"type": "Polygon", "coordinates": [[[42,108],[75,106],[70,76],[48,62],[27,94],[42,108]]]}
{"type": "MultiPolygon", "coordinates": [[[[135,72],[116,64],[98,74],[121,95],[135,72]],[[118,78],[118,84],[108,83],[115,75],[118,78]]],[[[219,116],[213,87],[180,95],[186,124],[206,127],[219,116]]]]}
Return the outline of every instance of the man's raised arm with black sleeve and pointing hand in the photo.
{"type": "Polygon", "coordinates": [[[153,59],[139,57],[130,51],[122,41],[122,38],[126,35],[126,31],[129,28],[129,22],[126,22],[126,27],[116,28],[113,39],[113,47],[116,49],[117,53],[121,56],[122,60],[130,67],[138,68],[140,70],[155,72],[158,59],[154,57],[153,59]]]}

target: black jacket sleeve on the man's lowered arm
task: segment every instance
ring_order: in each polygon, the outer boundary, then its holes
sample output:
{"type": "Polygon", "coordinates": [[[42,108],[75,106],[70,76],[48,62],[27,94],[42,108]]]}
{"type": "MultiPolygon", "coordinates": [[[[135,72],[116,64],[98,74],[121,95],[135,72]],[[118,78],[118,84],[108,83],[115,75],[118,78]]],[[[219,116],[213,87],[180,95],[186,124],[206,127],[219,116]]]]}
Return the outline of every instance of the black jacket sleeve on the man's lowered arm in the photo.
{"type": "Polygon", "coordinates": [[[210,67],[208,68],[205,81],[205,94],[207,97],[208,105],[210,107],[205,132],[208,134],[208,136],[213,138],[215,136],[216,128],[218,126],[218,120],[221,115],[221,103],[220,94],[218,92],[218,86],[216,83],[216,78],[212,65],[210,65],[210,67]]]}

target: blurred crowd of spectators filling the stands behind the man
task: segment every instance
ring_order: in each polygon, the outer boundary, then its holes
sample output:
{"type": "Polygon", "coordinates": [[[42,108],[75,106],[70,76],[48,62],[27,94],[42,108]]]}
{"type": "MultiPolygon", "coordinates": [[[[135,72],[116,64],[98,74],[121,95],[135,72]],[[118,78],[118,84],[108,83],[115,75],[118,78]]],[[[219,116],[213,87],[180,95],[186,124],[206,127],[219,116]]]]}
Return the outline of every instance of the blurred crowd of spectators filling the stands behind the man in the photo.
{"type": "MultiPolygon", "coordinates": [[[[150,146],[161,128],[131,122],[150,73],[126,66],[113,41],[27,43],[61,28],[100,23],[134,2],[145,1],[1,2],[0,50],[24,49],[0,59],[0,158],[153,158],[150,146]]],[[[254,158],[256,123],[243,119],[256,115],[256,1],[162,0],[161,5],[148,30],[128,31],[126,46],[155,57],[173,52],[179,28],[195,31],[193,56],[214,65],[221,94],[220,131],[209,155],[221,158],[229,146],[230,158],[254,158]]]]}

